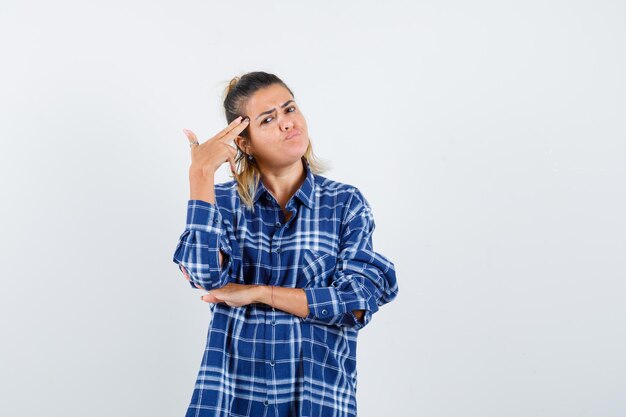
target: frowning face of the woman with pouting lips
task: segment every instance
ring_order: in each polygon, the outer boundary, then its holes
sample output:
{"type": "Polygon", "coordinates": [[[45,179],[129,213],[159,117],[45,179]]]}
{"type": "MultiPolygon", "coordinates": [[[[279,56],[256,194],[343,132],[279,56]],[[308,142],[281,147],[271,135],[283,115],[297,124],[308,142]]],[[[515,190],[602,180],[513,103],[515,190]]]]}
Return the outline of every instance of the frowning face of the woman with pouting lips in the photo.
{"type": "Polygon", "coordinates": [[[237,145],[260,165],[288,166],[306,152],[309,132],[306,120],[289,90],[280,84],[262,88],[248,99],[244,116],[250,118],[249,140],[237,145]]]}

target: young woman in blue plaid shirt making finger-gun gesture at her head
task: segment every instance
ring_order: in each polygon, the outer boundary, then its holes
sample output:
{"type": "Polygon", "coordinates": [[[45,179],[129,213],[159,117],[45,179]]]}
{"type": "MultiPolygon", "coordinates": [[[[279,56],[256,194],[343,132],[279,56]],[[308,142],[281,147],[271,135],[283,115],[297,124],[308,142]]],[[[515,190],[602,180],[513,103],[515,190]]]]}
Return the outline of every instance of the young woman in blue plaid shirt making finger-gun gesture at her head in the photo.
{"type": "Polygon", "coordinates": [[[369,203],[320,175],[275,75],[235,77],[224,109],[229,125],[203,143],[185,130],[191,192],[173,260],[212,312],[187,416],[356,416],[358,331],[398,294],[369,203]],[[215,185],[226,162],[234,180],[215,185]]]}

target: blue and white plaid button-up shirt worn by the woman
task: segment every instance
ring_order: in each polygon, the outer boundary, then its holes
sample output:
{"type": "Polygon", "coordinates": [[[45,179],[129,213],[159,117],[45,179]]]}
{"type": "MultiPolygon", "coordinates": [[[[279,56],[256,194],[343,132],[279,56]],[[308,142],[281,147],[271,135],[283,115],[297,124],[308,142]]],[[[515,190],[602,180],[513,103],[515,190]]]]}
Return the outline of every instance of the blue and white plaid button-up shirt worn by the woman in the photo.
{"type": "Polygon", "coordinates": [[[210,304],[187,416],[356,416],[357,334],[397,296],[395,269],[374,252],[374,219],[361,192],[303,164],[307,176],[287,203],[287,222],[262,182],[254,212],[240,201],[235,181],[215,185],[215,204],[188,201],[173,261],[193,288],[303,288],[309,314],[262,303],[210,304]],[[353,310],[365,310],[362,321],[353,310]]]}

